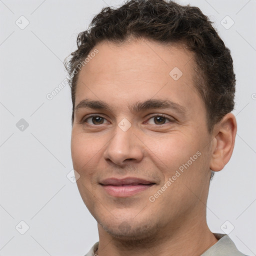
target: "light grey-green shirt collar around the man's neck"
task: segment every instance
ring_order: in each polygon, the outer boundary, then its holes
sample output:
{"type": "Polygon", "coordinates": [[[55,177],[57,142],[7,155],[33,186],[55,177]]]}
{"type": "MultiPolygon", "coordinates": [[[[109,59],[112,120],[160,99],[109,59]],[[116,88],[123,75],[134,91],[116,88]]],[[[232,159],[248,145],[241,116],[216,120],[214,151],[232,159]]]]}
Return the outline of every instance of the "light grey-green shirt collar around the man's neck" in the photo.
{"type": "MultiPolygon", "coordinates": [[[[226,234],[214,233],[218,241],[203,252],[200,256],[246,256],[237,250],[233,241],[226,234]]],[[[98,248],[96,242],[85,256],[96,256],[95,251],[98,248]]]]}

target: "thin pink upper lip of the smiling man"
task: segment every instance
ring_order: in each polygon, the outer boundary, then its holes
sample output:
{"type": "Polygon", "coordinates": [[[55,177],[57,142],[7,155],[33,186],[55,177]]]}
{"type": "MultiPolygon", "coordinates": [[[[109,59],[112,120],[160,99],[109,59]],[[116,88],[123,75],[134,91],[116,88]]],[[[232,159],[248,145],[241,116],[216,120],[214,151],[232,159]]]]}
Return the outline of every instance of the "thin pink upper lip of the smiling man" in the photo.
{"type": "Polygon", "coordinates": [[[136,177],[126,177],[126,178],[106,178],[99,182],[101,185],[115,185],[115,186],[121,186],[121,185],[148,185],[148,184],[155,184],[153,181],[149,181],[143,178],[136,178],[136,177]]]}

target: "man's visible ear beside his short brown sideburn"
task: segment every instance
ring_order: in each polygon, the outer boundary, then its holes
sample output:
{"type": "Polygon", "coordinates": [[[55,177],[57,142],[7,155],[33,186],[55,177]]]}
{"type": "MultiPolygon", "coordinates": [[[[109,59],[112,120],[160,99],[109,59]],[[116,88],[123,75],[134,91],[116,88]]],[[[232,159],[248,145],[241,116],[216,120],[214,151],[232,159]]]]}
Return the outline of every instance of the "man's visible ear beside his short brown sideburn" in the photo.
{"type": "Polygon", "coordinates": [[[213,134],[216,135],[212,143],[211,170],[219,171],[229,161],[234,148],[236,130],[236,119],[232,113],[227,113],[214,125],[213,134]]]}

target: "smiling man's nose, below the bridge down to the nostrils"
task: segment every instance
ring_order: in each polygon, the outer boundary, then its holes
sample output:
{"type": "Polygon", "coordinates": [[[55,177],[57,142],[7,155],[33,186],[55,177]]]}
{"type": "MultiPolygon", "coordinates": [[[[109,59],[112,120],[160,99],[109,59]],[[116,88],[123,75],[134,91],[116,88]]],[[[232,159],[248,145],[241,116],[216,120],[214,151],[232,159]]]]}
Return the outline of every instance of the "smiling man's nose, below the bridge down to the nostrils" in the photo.
{"type": "Polygon", "coordinates": [[[143,158],[143,144],[134,134],[132,126],[123,131],[116,126],[115,134],[105,147],[103,157],[116,165],[136,163],[143,158]]]}

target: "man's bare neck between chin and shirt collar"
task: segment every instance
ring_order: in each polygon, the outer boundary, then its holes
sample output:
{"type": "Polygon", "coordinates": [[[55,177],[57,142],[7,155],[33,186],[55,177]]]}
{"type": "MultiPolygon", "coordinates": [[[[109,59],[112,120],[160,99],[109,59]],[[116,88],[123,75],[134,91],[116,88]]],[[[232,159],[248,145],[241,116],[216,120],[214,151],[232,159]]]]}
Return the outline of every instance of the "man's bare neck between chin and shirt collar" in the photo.
{"type": "Polygon", "coordinates": [[[174,256],[178,254],[199,256],[217,242],[207,226],[206,217],[204,221],[201,218],[198,221],[197,215],[194,219],[190,217],[188,221],[183,219],[181,223],[175,227],[168,226],[140,240],[123,240],[113,237],[98,225],[99,247],[96,254],[98,256],[174,256]]]}

